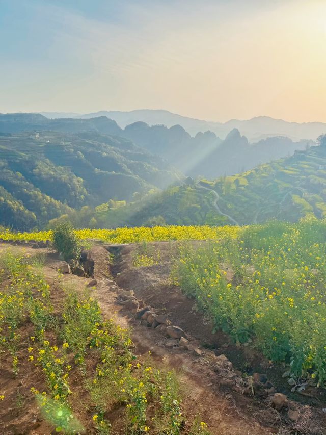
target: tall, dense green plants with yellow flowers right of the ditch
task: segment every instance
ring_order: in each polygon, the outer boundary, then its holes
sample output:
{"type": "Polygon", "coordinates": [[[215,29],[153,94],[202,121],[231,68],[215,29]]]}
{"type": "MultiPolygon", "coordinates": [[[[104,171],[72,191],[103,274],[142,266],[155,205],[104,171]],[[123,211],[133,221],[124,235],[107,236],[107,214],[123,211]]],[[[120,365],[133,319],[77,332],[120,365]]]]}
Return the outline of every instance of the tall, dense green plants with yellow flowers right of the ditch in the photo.
{"type": "Polygon", "coordinates": [[[326,383],[326,221],[271,222],[180,248],[173,277],[234,341],[326,383]]]}

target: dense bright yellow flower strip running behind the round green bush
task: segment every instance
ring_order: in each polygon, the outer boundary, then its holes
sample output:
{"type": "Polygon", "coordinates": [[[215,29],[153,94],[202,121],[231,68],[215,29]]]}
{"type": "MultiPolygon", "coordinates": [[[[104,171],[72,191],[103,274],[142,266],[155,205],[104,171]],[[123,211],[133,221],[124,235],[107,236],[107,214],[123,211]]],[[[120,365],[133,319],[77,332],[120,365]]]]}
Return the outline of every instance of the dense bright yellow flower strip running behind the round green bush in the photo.
{"type": "MultiPolygon", "coordinates": [[[[235,226],[154,226],[117,229],[76,229],[78,239],[96,239],[109,243],[158,242],[165,240],[216,240],[225,236],[236,237],[239,228],[235,226]]],[[[11,233],[0,231],[3,240],[52,240],[51,231],[36,233],[11,233]]]]}

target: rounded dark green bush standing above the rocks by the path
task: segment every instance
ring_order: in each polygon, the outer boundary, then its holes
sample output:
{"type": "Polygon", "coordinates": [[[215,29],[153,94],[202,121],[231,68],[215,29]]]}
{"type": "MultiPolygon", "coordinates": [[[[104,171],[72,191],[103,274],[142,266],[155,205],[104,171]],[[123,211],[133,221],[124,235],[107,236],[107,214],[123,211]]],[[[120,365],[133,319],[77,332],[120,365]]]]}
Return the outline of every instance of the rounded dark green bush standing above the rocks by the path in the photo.
{"type": "Polygon", "coordinates": [[[53,247],[66,261],[78,258],[80,247],[70,222],[62,222],[53,229],[53,247]]]}

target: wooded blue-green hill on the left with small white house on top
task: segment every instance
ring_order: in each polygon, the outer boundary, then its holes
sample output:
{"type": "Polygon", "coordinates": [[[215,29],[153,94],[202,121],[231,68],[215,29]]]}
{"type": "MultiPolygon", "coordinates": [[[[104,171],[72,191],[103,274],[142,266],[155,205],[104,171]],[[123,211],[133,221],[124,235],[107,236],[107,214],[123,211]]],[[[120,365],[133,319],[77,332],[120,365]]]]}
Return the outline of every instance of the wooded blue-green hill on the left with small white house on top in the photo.
{"type": "Polygon", "coordinates": [[[95,132],[0,136],[0,224],[42,227],[109,199],[164,189],[180,175],[127,139],[95,132]]]}

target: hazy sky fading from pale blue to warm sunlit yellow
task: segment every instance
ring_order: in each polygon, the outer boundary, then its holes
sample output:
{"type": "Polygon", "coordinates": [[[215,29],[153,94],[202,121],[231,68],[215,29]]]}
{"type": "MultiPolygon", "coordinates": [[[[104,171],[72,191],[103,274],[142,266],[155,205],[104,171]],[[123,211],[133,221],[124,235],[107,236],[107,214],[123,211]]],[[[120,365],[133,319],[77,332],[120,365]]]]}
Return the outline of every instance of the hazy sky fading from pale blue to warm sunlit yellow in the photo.
{"type": "Polygon", "coordinates": [[[326,122],[326,0],[0,0],[0,112],[326,122]]]}

